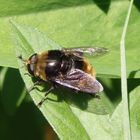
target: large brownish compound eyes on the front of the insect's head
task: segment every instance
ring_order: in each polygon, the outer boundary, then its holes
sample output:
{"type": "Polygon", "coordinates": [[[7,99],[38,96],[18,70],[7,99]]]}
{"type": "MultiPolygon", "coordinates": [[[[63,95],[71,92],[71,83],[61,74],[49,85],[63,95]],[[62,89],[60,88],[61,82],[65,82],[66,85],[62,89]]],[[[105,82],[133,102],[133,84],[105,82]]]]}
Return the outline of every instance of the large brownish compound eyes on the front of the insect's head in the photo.
{"type": "Polygon", "coordinates": [[[29,63],[27,64],[28,72],[33,76],[34,76],[36,63],[37,63],[37,54],[35,53],[32,56],[30,56],[29,63]]]}

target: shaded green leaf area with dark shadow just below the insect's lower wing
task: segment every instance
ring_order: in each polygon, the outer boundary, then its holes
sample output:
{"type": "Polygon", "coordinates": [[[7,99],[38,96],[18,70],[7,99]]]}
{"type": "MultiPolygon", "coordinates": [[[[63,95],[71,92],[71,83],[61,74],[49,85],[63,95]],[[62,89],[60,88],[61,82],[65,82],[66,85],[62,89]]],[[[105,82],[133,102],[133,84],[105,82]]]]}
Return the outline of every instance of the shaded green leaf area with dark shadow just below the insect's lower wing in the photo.
{"type": "Polygon", "coordinates": [[[111,114],[114,109],[114,105],[108,100],[105,92],[100,93],[99,98],[82,93],[77,95],[62,89],[60,92],[65,93],[61,96],[71,107],[76,107],[86,112],[105,115],[111,114]]]}

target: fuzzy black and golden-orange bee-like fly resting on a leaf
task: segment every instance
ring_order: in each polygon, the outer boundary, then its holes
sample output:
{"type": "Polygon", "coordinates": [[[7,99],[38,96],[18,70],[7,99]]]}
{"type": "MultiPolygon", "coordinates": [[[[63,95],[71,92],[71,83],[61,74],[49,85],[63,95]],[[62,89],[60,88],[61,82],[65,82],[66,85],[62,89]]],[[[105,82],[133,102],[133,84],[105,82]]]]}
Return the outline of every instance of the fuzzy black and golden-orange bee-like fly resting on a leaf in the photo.
{"type": "Polygon", "coordinates": [[[52,83],[39,105],[45,101],[55,85],[89,94],[103,91],[103,86],[96,80],[95,70],[84,55],[100,55],[106,51],[105,48],[64,48],[31,55],[25,60],[29,74],[44,82],[52,83]]]}

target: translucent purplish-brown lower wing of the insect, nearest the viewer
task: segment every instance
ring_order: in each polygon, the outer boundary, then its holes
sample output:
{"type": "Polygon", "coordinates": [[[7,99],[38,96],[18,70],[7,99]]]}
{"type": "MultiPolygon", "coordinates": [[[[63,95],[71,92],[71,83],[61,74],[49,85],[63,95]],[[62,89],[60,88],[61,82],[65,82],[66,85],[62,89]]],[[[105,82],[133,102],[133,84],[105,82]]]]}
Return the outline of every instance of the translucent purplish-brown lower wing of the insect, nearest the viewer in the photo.
{"type": "Polygon", "coordinates": [[[103,91],[102,85],[91,75],[79,70],[73,69],[64,77],[57,77],[55,82],[77,91],[90,94],[103,91]]]}

